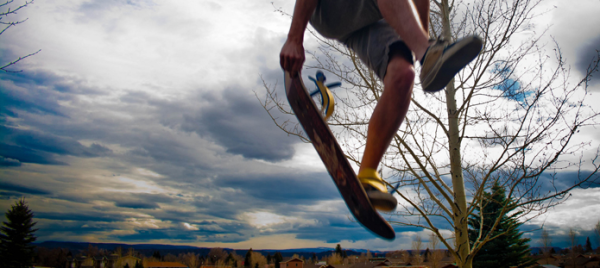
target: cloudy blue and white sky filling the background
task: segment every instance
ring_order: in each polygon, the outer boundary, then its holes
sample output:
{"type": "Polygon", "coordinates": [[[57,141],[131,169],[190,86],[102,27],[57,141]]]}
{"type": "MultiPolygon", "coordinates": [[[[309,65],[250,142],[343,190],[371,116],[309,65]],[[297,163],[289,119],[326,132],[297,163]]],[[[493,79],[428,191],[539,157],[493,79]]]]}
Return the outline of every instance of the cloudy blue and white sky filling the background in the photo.
{"type": "MultiPolygon", "coordinates": [[[[545,1],[535,23],[580,74],[600,49],[600,1],[576,2],[545,1]]],[[[257,100],[263,80],[283,90],[290,18],[276,9],[293,4],[38,0],[9,17],[28,20],[0,36],[0,63],[41,51],[0,73],[0,210],[26,197],[38,241],[397,250],[427,237],[364,230],[312,146],[257,100]]],[[[567,246],[574,228],[597,247],[599,204],[600,189],[574,190],[525,236],[539,246],[544,224],[567,246]]]]}

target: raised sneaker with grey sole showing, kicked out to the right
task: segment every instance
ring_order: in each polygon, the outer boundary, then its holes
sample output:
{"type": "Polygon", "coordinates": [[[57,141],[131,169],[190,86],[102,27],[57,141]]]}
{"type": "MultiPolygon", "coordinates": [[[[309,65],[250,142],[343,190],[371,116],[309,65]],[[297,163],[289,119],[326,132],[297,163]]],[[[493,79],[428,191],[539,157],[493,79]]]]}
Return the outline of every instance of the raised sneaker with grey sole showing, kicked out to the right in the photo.
{"type": "Polygon", "coordinates": [[[479,55],[483,41],[477,36],[460,39],[451,45],[437,40],[421,60],[421,85],[426,92],[438,92],[469,62],[479,55]]]}

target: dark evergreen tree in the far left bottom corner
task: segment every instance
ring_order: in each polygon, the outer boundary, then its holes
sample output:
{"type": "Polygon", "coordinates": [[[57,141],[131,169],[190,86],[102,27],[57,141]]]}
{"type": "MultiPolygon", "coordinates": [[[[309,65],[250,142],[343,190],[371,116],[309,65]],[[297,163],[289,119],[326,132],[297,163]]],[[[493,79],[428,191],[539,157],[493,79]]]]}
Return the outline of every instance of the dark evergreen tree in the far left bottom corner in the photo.
{"type": "Polygon", "coordinates": [[[0,259],[6,268],[32,267],[35,258],[36,240],[33,235],[33,213],[22,198],[6,212],[6,219],[0,227],[0,259]]]}

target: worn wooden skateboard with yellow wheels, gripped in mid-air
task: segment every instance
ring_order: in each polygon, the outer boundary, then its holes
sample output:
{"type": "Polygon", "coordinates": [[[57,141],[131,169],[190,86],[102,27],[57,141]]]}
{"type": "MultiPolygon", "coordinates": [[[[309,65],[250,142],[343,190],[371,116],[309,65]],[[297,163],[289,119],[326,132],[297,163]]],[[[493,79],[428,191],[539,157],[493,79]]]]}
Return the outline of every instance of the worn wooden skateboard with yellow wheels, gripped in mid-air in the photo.
{"type": "MultiPolygon", "coordinates": [[[[318,87],[317,91],[321,93],[322,110],[319,111],[311,97],[316,92],[309,94],[300,74],[292,78],[288,72],[285,72],[285,92],[290,106],[298,121],[300,121],[304,132],[317,150],[354,218],[374,234],[393,240],[396,236],[394,229],[371,205],[367,193],[358,181],[352,166],[350,166],[350,162],[346,159],[326,120],[324,120],[324,117],[329,117],[333,113],[333,98],[324,84],[325,77],[322,73],[321,76],[317,73],[317,79],[311,78],[318,87]],[[329,115],[327,115],[328,113],[329,115]]],[[[334,85],[338,84],[332,84],[331,86],[334,85]]]]}

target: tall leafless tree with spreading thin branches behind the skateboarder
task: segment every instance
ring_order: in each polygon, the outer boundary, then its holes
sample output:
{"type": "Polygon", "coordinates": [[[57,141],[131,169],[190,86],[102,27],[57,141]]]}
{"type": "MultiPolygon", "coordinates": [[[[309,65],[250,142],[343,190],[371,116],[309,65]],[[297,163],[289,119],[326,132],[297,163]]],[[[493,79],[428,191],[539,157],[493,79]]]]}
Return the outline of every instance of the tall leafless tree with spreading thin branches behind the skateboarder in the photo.
{"type": "MultiPolygon", "coordinates": [[[[477,251],[504,234],[493,232],[498,218],[489,232],[481,231],[472,243],[468,238],[467,218],[475,208],[483,209],[483,193],[494,183],[507,189],[498,215],[519,212],[518,220],[527,222],[564,202],[572,189],[598,182],[600,148],[584,154],[591,143],[577,133],[598,126],[600,113],[584,100],[599,58],[590,59],[587,71],[573,82],[558,44],[550,56],[540,43],[546,31],[532,28],[532,19],[544,12],[540,2],[432,1],[434,35],[453,40],[477,34],[484,49],[444,93],[415,90],[411,110],[382,162],[390,186],[400,183],[397,194],[403,201],[390,222],[431,230],[459,267],[472,267],[477,251]],[[572,175],[555,183],[563,171],[572,175]],[[440,229],[454,236],[444,237],[440,229]]],[[[309,52],[315,60],[309,68],[324,69],[345,85],[346,90],[334,92],[337,107],[329,125],[346,157],[359,165],[382,84],[353,51],[314,36],[321,46],[309,52]]],[[[277,126],[308,141],[297,124],[286,120],[292,115],[286,101],[266,82],[265,88],[260,101],[277,126]]]]}

